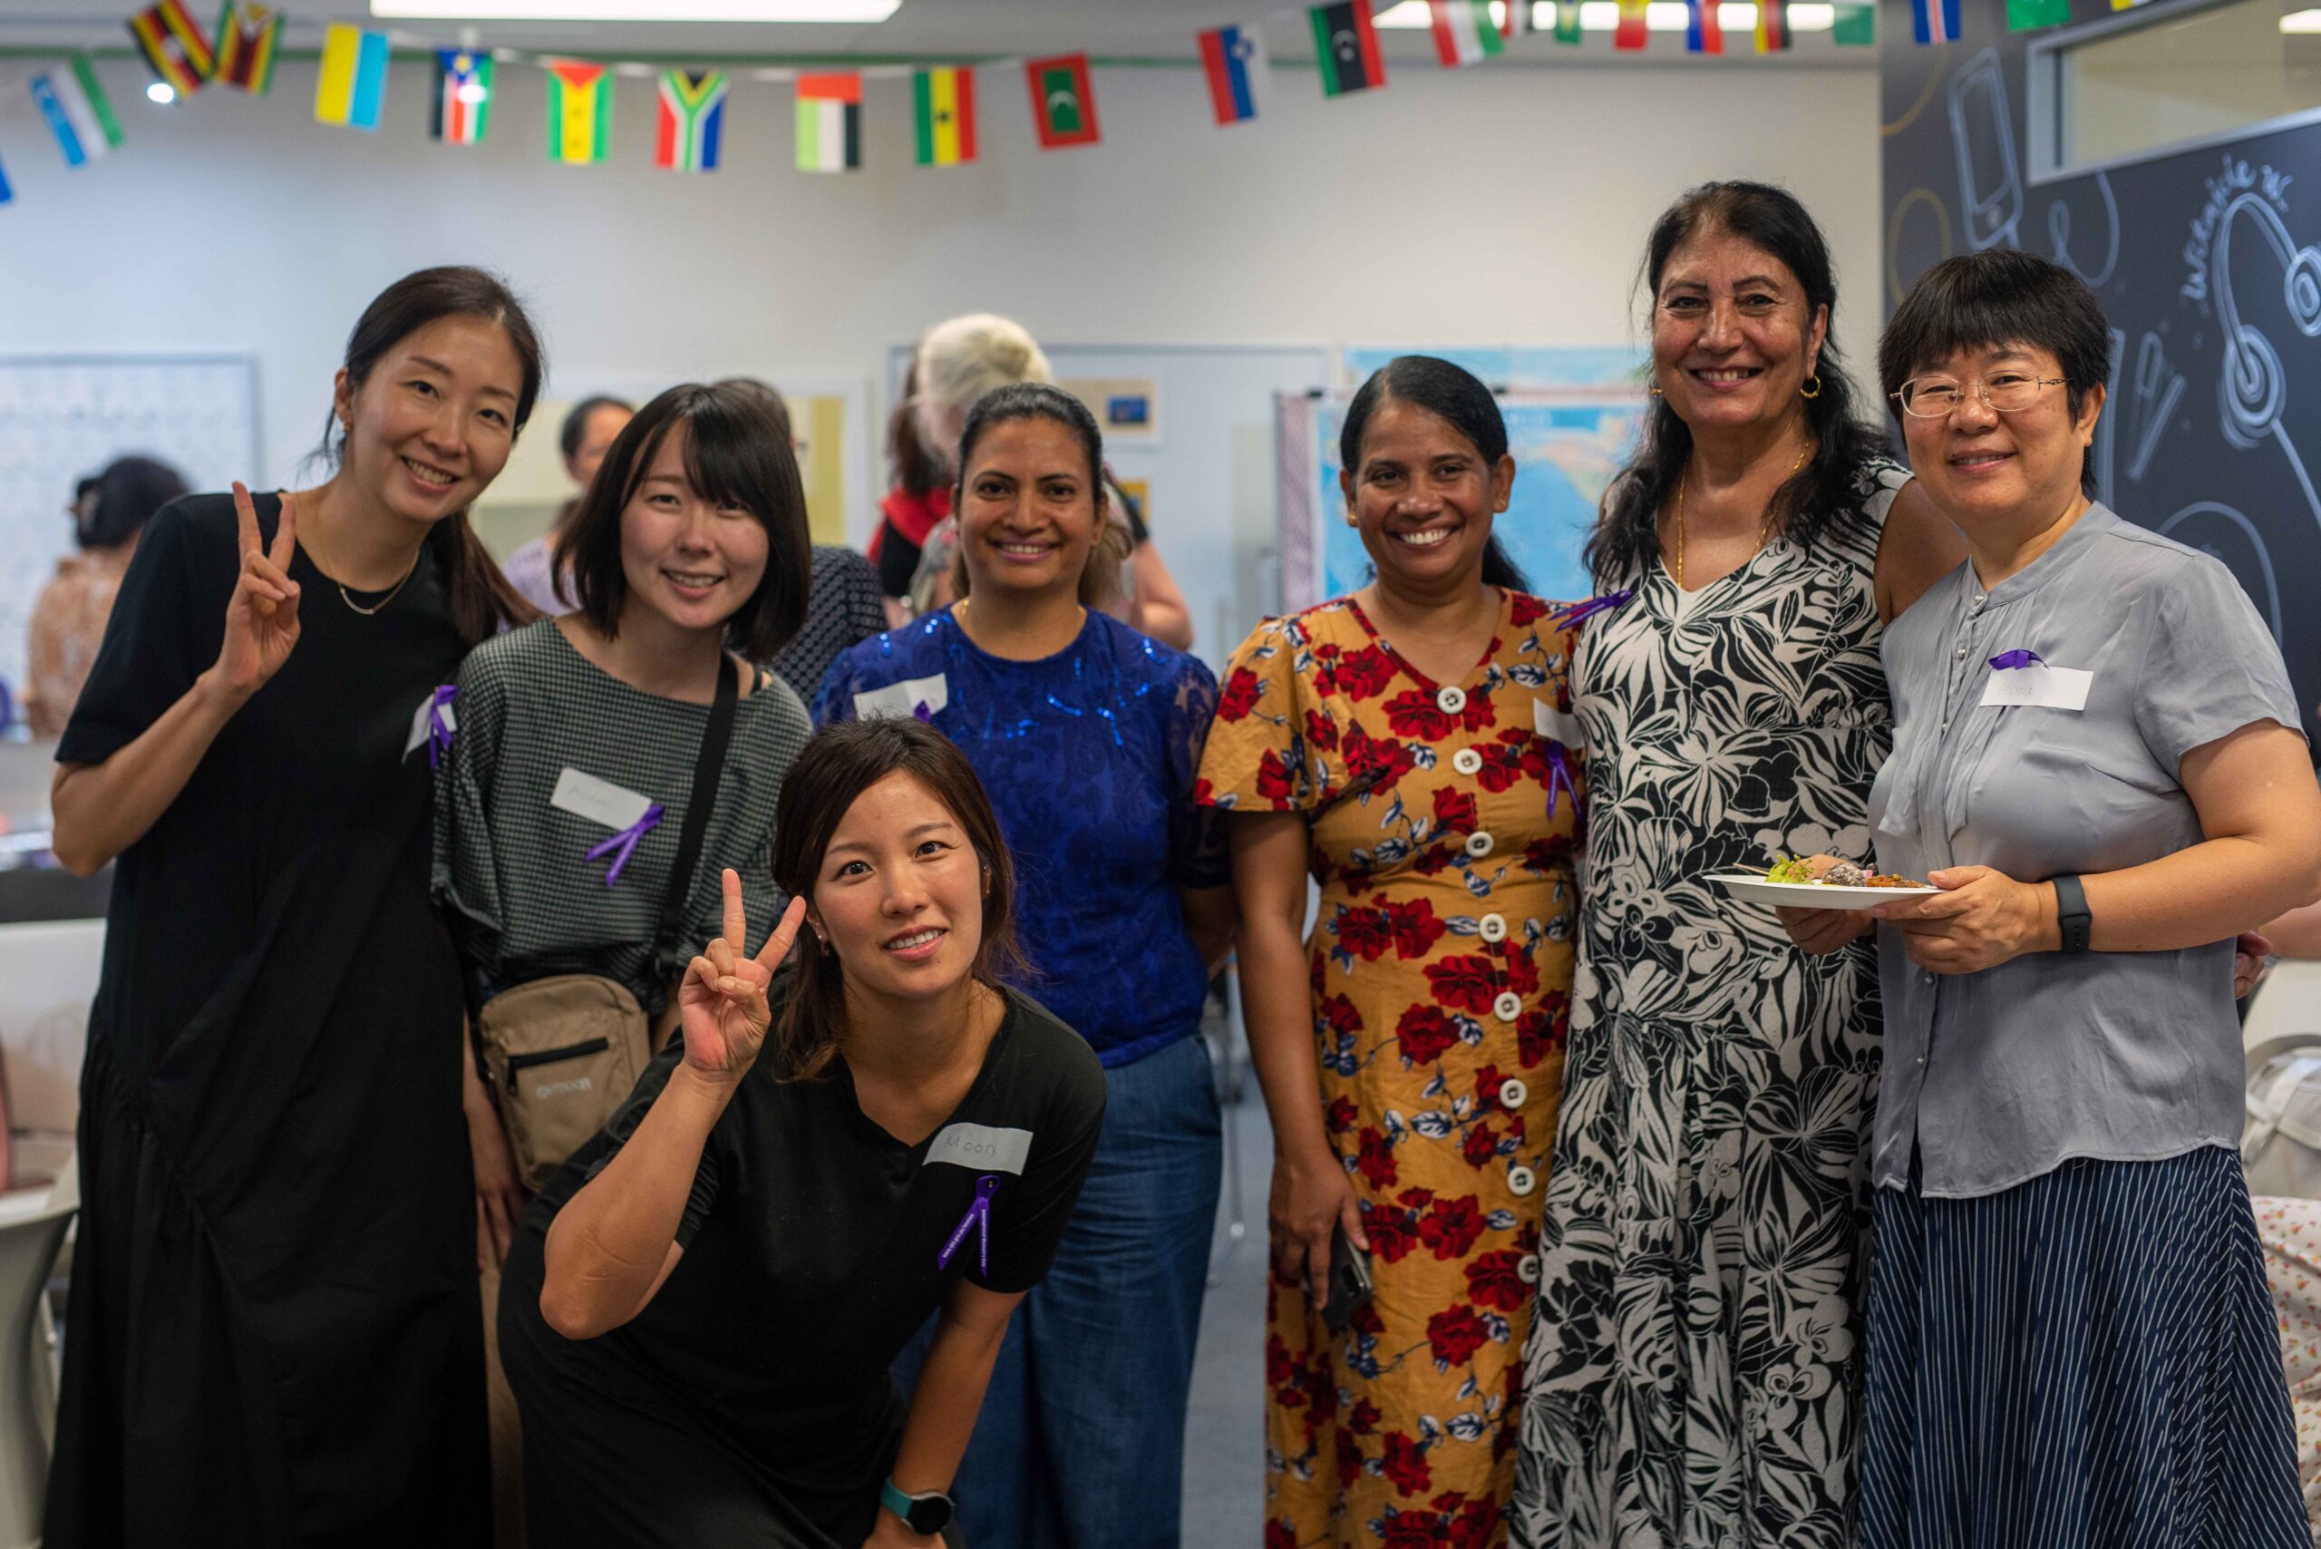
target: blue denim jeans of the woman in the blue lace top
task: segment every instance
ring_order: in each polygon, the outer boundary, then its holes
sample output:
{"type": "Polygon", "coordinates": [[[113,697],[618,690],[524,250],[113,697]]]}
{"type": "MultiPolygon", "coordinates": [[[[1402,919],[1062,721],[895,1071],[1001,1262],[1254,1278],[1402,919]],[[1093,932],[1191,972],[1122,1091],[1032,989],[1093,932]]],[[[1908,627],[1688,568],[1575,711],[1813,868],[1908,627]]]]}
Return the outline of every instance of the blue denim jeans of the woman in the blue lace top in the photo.
{"type": "MultiPolygon", "coordinates": [[[[968,1549],[1177,1549],[1184,1412],[1223,1177],[1198,1036],[1105,1071],[1072,1224],[1017,1307],[952,1496],[968,1549]]],[[[933,1324],[896,1359],[908,1393],[933,1324]]]]}

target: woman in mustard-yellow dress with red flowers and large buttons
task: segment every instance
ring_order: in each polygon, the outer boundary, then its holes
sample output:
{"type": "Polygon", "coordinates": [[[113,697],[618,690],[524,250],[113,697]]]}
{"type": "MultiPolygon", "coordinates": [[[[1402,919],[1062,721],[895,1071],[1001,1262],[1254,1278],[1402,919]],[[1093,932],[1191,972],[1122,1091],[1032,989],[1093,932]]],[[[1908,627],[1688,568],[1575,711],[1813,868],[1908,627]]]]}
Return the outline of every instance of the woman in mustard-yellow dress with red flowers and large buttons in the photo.
{"type": "Polygon", "coordinates": [[[1490,541],[1516,464],[1474,376],[1390,362],[1342,462],[1376,578],[1242,643],[1195,790],[1235,815],[1274,1124],[1265,1547],[1490,1549],[1571,989],[1571,625],[1490,541]],[[1376,1280],[1342,1333],[1332,1229],[1376,1280]]]}

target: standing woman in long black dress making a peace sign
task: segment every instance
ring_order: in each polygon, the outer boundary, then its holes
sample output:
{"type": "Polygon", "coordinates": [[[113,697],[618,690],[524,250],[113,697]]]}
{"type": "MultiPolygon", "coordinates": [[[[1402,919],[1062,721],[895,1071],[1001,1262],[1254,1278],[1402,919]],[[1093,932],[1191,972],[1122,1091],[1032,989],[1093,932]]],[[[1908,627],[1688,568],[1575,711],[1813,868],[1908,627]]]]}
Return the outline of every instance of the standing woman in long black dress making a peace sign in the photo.
{"type": "Polygon", "coordinates": [[[118,857],[81,1071],[46,1542],[478,1544],[460,971],[429,706],[529,608],[469,529],[541,383],[515,297],[422,269],[348,337],[302,495],[146,527],[58,745],[118,857]]]}

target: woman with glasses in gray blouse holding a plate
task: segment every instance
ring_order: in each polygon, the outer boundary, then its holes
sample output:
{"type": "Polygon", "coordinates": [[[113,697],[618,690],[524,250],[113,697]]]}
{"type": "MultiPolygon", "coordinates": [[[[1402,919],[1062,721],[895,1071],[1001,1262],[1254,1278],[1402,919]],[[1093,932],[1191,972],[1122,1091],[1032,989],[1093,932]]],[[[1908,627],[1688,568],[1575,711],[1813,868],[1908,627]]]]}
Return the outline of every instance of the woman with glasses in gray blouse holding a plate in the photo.
{"type": "Polygon", "coordinates": [[[1875,910],[1866,1549],[2312,1544],[2233,938],[2321,894],[2321,790],[2230,571],[2089,499],[2107,367],[2094,293],[2003,248],[1878,351],[1968,562],[1882,653],[1878,864],[1940,894],[1875,910]]]}

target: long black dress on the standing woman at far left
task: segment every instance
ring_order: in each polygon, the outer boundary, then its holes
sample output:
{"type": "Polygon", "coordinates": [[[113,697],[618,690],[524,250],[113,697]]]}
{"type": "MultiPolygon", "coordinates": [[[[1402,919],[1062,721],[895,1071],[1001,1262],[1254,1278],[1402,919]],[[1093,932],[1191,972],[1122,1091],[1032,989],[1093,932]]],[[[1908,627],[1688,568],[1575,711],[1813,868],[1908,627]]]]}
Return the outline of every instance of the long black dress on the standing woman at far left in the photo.
{"type": "MultiPolygon", "coordinates": [[[[297,648],[121,855],[51,1549],[487,1537],[460,975],[411,745],[460,662],[448,536],[376,615],[299,553],[297,648]]],[[[216,662],[237,569],[227,497],[153,518],[60,762],[216,662]]]]}

